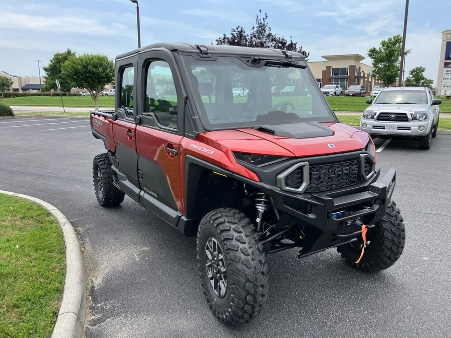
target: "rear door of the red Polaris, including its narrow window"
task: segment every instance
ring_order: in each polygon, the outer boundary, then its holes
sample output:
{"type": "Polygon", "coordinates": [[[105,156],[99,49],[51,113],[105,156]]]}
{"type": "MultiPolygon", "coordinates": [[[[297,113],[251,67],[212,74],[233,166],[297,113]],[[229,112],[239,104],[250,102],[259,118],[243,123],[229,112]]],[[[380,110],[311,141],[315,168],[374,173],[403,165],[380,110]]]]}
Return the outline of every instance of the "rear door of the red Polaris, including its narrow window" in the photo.
{"type": "Polygon", "coordinates": [[[114,155],[115,167],[118,169],[119,184],[124,192],[139,201],[138,154],[136,152],[136,82],[138,57],[127,57],[116,60],[116,88],[115,96],[117,120],[113,124],[113,136],[116,142],[114,155]]]}

